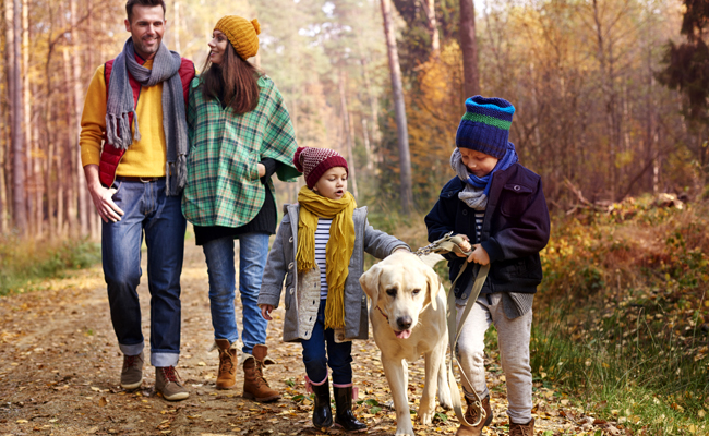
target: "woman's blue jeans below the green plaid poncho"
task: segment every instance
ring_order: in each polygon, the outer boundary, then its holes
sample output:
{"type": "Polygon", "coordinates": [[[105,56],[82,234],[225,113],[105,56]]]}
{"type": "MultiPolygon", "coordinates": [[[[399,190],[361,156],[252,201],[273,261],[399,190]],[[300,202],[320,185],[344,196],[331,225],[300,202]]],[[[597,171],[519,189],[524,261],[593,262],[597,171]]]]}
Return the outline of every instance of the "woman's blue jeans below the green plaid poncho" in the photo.
{"type": "MultiPolygon", "coordinates": [[[[235,241],[231,237],[220,238],[202,246],[209,275],[209,306],[215,339],[239,339],[233,307],[236,270],[233,266],[235,241]]],[[[266,343],[268,322],[261,316],[256,305],[261,291],[261,279],[268,257],[268,234],[247,233],[239,235],[239,293],[243,330],[241,351],[251,354],[257,343],[266,343]]]]}

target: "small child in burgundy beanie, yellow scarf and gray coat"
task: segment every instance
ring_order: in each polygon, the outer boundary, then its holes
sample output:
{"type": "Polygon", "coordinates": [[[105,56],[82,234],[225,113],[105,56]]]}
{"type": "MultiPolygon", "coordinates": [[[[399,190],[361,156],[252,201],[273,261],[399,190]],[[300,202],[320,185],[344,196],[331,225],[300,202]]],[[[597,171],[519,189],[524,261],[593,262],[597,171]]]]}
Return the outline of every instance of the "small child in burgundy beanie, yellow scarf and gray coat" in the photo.
{"type": "Polygon", "coordinates": [[[261,284],[263,317],[278,307],[286,282],[284,341],[303,346],[308,391],[315,393],[313,424],[333,425],[327,366],[333,371],[335,422],[347,431],[366,425],[352,414],[352,339],[366,339],[366,298],[360,288],[364,251],[384,258],[410,251],[374,230],[366,208],[347,192],[347,161],[327,148],[300,147],[293,162],[305,175],[298,204],[288,205],[261,284]],[[326,351],[327,349],[327,351],[326,351]]]}

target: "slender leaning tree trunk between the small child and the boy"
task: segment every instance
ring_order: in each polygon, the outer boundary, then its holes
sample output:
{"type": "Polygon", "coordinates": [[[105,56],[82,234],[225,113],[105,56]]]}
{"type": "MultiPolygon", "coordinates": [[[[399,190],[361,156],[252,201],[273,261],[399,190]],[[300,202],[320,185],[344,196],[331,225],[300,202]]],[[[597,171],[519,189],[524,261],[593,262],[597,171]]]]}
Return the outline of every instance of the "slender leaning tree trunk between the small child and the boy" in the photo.
{"type": "Polygon", "coordinates": [[[389,58],[389,71],[392,73],[392,88],[394,90],[394,112],[396,118],[396,130],[399,146],[399,173],[401,180],[401,211],[408,216],[411,214],[413,204],[411,182],[411,156],[409,154],[409,132],[406,122],[406,105],[404,101],[404,87],[401,83],[401,65],[399,53],[396,48],[396,36],[394,35],[394,22],[392,20],[392,4],[389,0],[381,0],[382,16],[384,19],[384,34],[386,36],[386,49],[389,58]]]}

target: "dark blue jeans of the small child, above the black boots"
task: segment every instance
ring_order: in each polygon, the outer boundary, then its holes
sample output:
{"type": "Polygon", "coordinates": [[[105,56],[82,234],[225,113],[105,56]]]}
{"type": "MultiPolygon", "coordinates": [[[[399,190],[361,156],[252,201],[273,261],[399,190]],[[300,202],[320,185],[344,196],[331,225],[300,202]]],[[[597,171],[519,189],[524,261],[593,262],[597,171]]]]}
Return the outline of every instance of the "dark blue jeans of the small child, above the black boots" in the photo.
{"type": "Polygon", "coordinates": [[[333,370],[333,384],[352,383],[352,341],[335,342],[335,330],[325,329],[325,300],[320,301],[317,319],[310,339],[303,340],[303,363],[308,378],[321,383],[327,377],[327,366],[333,370]],[[327,346],[327,353],[325,353],[327,346]],[[329,358],[329,359],[328,359],[329,358]]]}

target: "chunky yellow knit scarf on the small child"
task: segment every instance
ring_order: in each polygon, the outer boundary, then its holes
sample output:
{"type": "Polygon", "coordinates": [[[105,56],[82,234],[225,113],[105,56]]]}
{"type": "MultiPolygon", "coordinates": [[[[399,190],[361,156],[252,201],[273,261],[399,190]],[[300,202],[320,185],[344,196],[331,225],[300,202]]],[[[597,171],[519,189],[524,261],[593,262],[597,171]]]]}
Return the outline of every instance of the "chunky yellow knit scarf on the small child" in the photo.
{"type": "Polygon", "coordinates": [[[345,281],[349,261],[354,250],[354,221],[352,214],[357,202],[349,192],[341,199],[329,199],[303,186],[298,193],[300,218],[298,220],[298,271],[315,267],[315,230],[317,218],[333,219],[329,240],[325,246],[327,269],[327,301],[325,328],[345,327],[345,281]]]}

